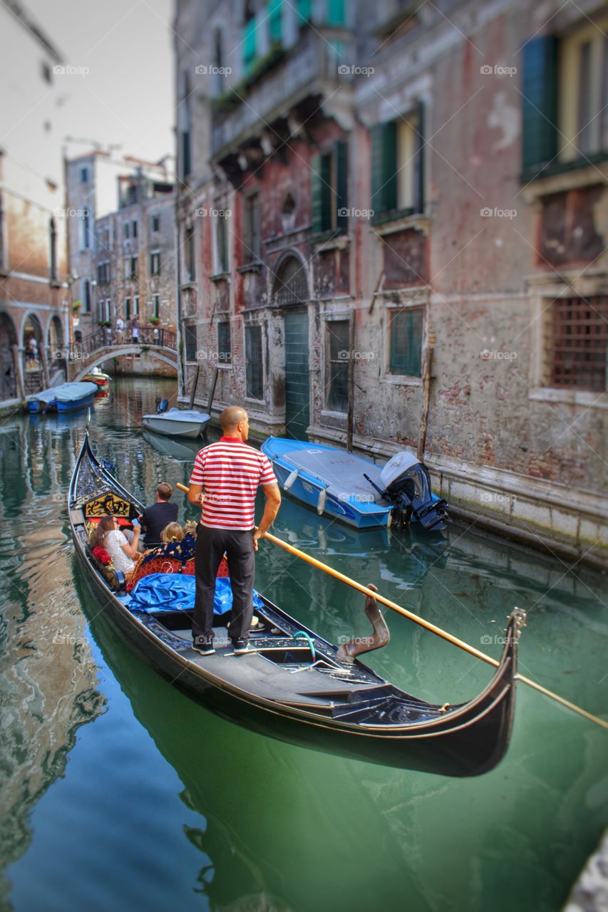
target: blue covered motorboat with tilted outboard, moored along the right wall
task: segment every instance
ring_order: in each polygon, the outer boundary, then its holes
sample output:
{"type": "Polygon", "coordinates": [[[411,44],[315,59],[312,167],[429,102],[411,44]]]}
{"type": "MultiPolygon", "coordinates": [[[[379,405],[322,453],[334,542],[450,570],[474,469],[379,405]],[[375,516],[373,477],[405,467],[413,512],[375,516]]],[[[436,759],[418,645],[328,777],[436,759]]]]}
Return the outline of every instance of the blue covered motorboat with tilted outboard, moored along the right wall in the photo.
{"type": "Polygon", "coordinates": [[[417,521],[446,528],[447,503],[431,492],[424,463],[399,452],[379,466],[336,447],[269,437],[261,446],[284,491],[318,513],[359,529],[417,521]]]}

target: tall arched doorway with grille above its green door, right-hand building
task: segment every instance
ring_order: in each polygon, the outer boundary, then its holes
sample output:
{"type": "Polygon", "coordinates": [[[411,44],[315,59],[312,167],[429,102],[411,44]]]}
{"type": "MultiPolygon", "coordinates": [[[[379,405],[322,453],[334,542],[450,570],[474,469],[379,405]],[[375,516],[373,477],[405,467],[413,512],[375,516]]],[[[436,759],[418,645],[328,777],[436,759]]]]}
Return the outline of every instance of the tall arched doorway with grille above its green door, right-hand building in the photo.
{"type": "Polygon", "coordinates": [[[310,423],[309,283],[306,266],[295,254],[278,264],[273,297],[285,308],[285,432],[307,440],[310,423]]]}

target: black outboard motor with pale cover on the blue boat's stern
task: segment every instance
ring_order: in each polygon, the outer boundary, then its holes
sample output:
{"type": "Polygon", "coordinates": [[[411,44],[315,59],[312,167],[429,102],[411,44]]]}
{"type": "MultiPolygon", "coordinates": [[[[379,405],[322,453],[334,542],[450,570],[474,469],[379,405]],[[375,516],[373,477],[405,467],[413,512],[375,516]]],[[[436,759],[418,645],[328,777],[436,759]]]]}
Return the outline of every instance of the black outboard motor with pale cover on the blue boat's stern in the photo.
{"type": "Polygon", "coordinates": [[[439,531],[446,528],[447,502],[443,498],[433,499],[428,469],[413,453],[396,453],[386,463],[380,473],[382,487],[374,484],[367,475],[365,478],[385,501],[394,504],[401,525],[407,525],[414,514],[425,529],[439,531]]]}

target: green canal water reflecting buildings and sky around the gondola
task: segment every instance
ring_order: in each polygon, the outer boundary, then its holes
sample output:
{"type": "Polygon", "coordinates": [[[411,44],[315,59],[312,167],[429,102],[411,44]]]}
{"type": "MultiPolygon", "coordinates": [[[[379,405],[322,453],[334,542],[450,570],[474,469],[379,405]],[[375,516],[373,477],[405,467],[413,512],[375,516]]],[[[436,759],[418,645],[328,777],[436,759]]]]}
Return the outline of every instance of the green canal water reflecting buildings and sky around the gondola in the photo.
{"type": "MultiPolygon", "coordinates": [[[[142,434],[170,381],[121,379],[91,438],[151,502],[196,446],[142,434]]],[[[519,685],[506,759],[446,779],[274,741],[216,718],[126,648],[89,595],[66,494],[84,415],[0,420],[0,907],[15,912],[554,912],[608,819],[606,732],[519,685]]],[[[194,517],[182,495],[181,518],[194,517]]],[[[605,713],[605,576],[475,524],[357,534],[285,498],[275,531],[498,658],[526,608],[520,670],[605,713]]],[[[257,588],[336,641],[363,598],[269,543],[257,588]]],[[[389,613],[390,614],[390,613],[389,613]]],[[[369,664],[436,702],[492,669],[404,617],[369,664]]]]}

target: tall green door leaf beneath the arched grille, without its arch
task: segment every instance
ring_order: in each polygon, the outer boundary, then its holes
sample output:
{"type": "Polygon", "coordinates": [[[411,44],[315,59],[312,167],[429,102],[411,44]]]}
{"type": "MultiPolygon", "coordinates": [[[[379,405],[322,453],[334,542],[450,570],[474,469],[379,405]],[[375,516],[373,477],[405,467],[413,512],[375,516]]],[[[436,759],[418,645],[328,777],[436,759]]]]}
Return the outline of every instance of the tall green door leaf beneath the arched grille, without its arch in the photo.
{"type": "Polygon", "coordinates": [[[285,427],[294,440],[308,440],[309,395],[309,314],[289,310],[285,314],[285,427]]]}

